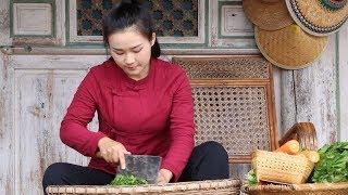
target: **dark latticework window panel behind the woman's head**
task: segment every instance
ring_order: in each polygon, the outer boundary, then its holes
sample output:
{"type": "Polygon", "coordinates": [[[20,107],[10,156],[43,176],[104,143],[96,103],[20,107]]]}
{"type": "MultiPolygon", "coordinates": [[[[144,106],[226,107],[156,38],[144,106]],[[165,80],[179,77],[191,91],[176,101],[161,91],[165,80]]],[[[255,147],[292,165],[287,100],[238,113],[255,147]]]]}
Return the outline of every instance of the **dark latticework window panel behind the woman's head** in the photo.
{"type": "MultiPolygon", "coordinates": [[[[77,0],[77,35],[101,36],[101,20],[120,0],[77,0]]],[[[198,0],[149,1],[154,29],[160,37],[197,37],[198,0]]]]}

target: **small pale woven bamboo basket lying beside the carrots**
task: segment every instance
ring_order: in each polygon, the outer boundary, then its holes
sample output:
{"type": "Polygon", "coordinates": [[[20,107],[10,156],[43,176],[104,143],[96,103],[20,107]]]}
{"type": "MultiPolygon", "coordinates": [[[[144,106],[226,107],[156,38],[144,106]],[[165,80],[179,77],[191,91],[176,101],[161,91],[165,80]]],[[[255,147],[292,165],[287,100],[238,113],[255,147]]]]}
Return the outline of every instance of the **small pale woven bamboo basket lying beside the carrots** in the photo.
{"type": "Polygon", "coordinates": [[[304,156],[259,150],[252,153],[251,164],[258,181],[285,184],[304,183],[314,168],[304,156]]]}

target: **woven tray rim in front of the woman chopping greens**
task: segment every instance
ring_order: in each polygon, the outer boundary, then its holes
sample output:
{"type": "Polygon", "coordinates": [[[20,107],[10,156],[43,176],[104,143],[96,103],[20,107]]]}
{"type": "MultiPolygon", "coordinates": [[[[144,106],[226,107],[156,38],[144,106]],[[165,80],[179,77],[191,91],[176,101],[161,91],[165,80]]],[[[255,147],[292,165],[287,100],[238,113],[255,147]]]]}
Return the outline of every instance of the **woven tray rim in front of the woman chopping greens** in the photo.
{"type": "Polygon", "coordinates": [[[48,186],[47,194],[239,194],[240,181],[234,179],[169,183],[166,185],[110,186],[60,185],[48,186]]]}

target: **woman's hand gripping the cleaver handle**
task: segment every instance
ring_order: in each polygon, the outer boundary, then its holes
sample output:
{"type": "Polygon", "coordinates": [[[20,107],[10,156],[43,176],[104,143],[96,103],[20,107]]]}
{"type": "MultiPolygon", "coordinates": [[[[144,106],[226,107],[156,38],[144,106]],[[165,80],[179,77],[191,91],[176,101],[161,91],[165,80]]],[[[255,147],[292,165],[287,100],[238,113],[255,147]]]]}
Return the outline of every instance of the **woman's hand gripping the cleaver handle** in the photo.
{"type": "Polygon", "coordinates": [[[124,155],[130,154],[122,143],[116,142],[108,136],[104,136],[98,142],[99,153],[98,157],[103,158],[109,164],[120,162],[121,169],[125,169],[126,162],[124,155]]]}

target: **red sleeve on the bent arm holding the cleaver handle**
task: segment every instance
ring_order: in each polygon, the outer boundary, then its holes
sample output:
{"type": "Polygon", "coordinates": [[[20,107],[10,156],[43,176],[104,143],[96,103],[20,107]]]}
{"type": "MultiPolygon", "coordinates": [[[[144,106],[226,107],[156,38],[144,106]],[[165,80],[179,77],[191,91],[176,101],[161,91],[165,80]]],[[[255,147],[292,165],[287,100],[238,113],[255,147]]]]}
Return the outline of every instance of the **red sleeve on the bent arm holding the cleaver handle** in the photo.
{"type": "Polygon", "coordinates": [[[87,129],[96,112],[97,90],[91,69],[77,88],[60,129],[62,142],[85,156],[95,156],[98,141],[105,136],[102,132],[92,132],[87,129]]]}

